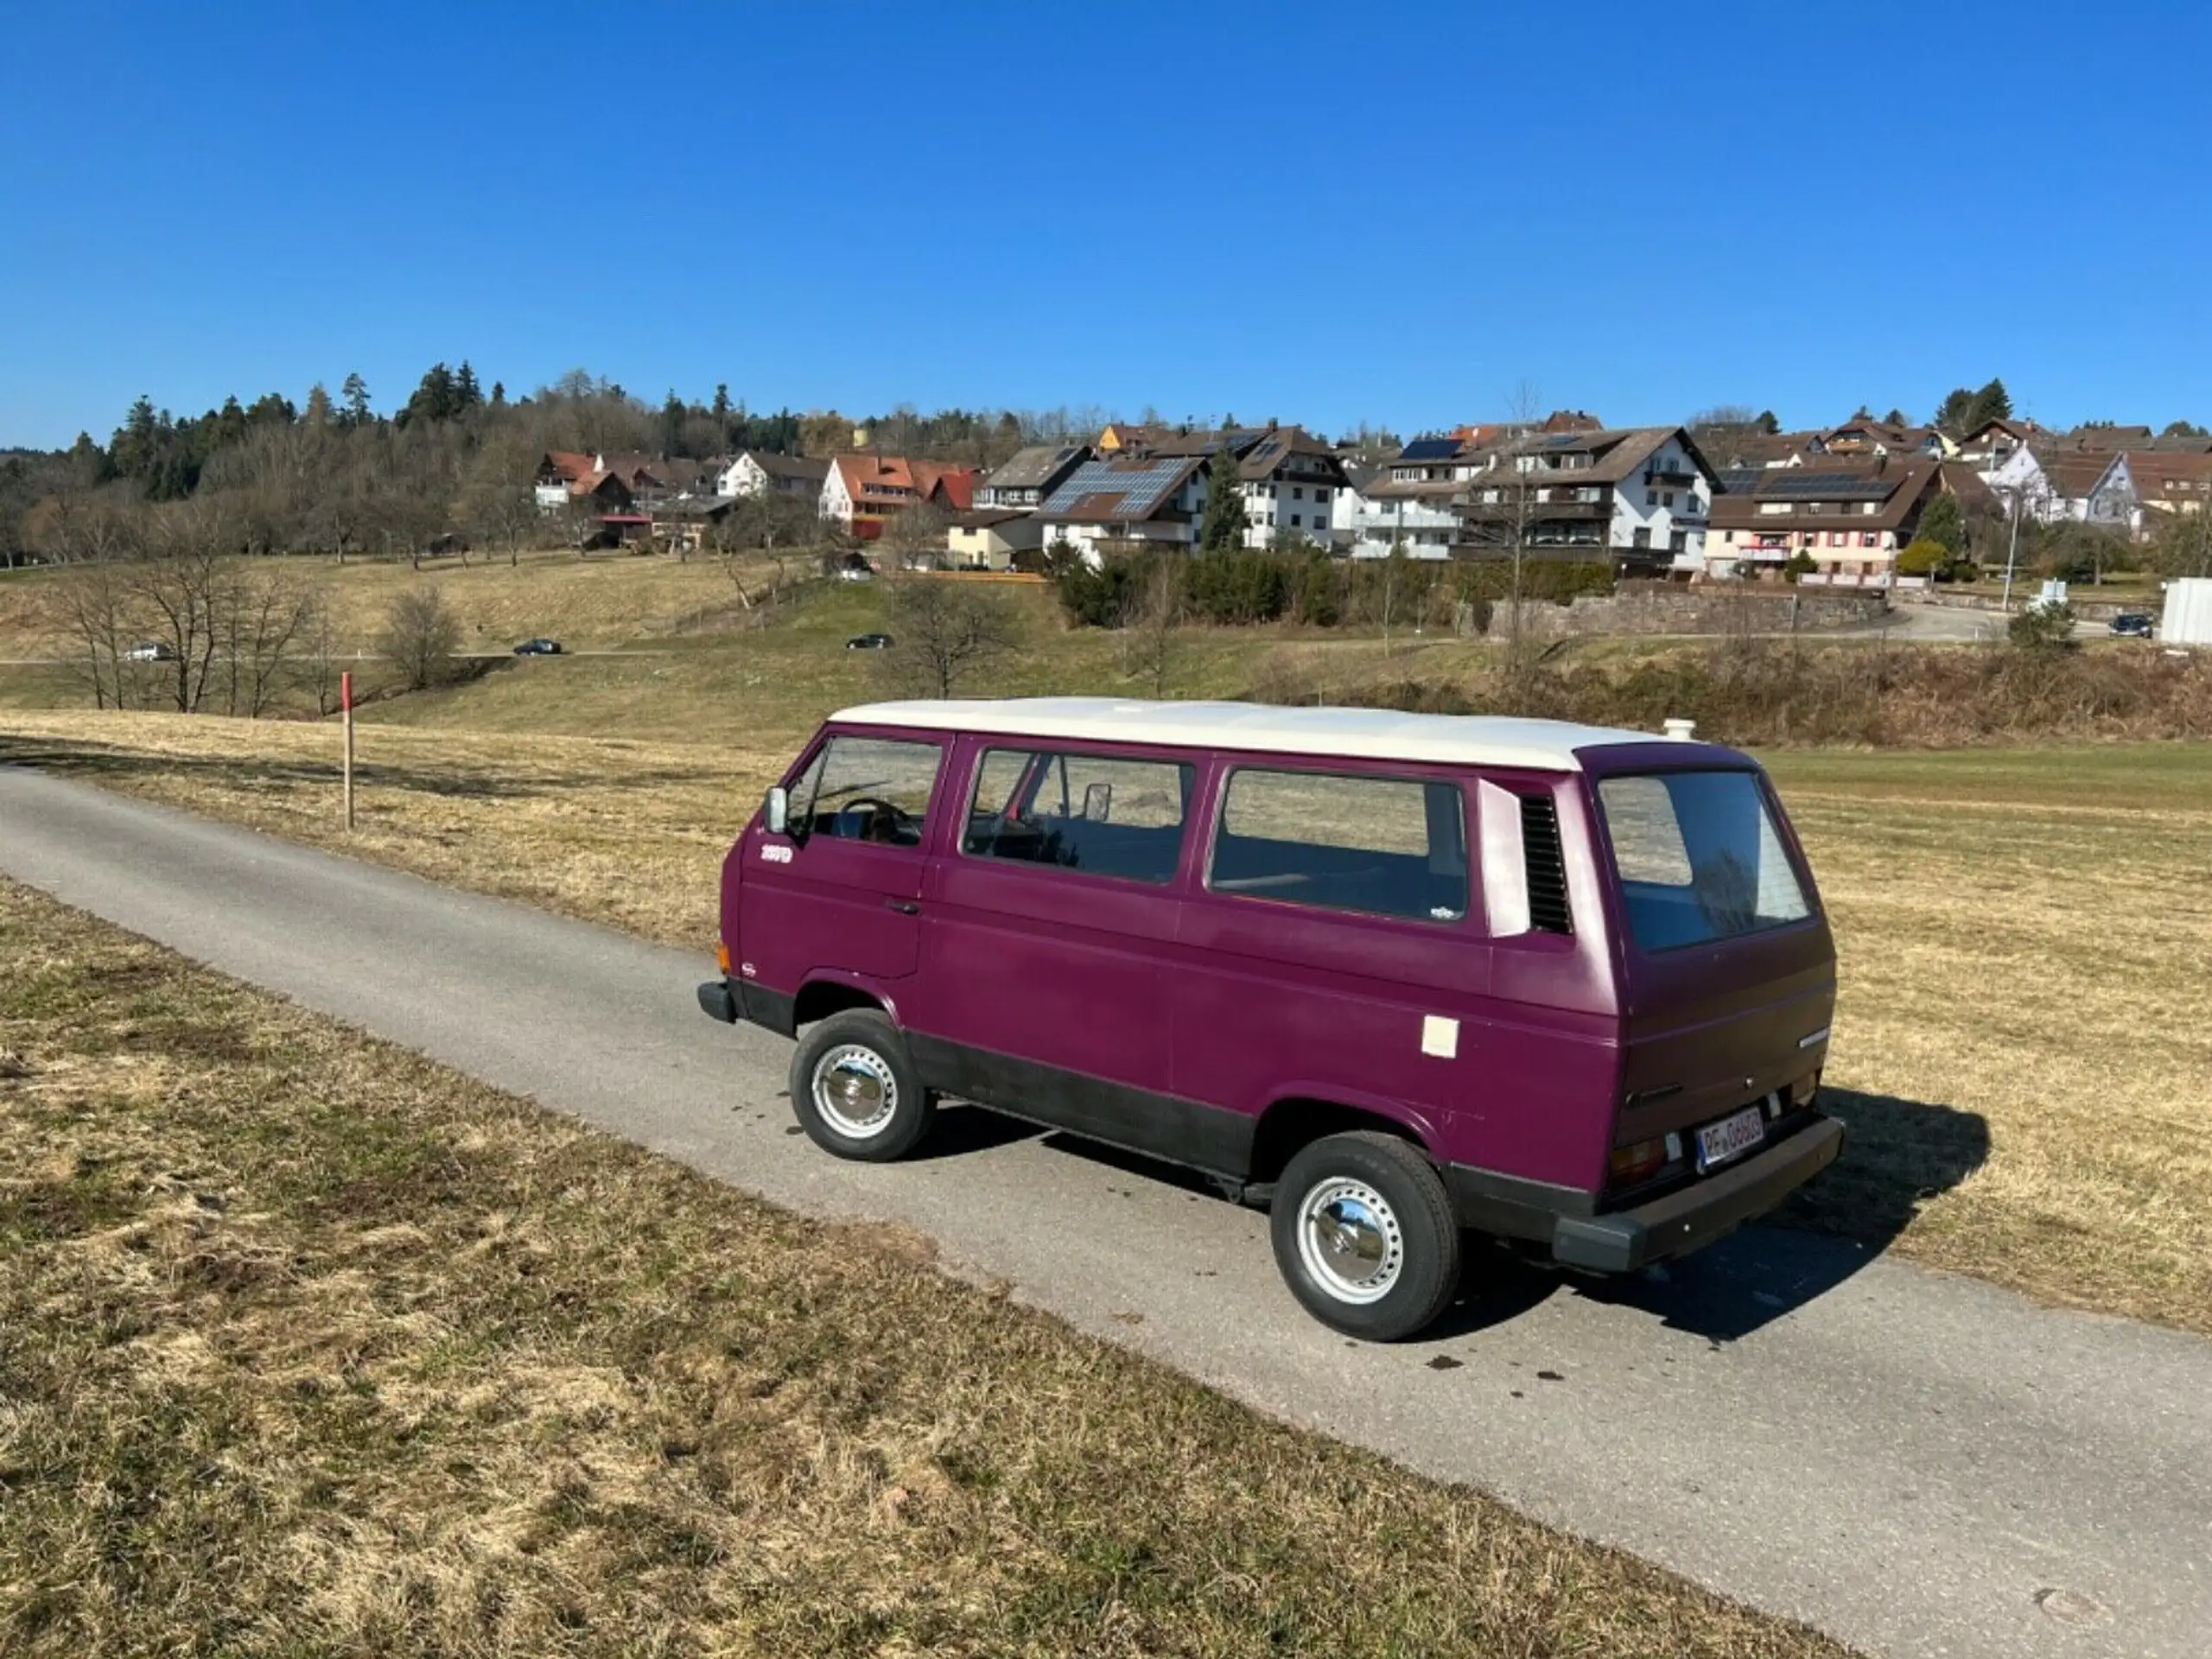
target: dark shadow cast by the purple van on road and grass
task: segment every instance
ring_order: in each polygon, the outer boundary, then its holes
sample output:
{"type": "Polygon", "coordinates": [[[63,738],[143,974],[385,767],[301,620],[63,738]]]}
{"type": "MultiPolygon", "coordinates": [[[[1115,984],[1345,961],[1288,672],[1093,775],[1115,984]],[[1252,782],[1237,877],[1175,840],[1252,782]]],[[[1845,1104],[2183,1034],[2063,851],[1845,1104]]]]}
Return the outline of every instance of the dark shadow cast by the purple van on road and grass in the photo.
{"type": "MultiPolygon", "coordinates": [[[[1849,1130],[1843,1157],[1770,1221],[1683,1261],[1621,1279],[1568,1274],[1471,1239],[1460,1292],[1418,1345],[1511,1323],[1559,1292],[1637,1310],[1712,1343],[1732,1343],[1845,1283],[1905,1232],[1922,1203],[1955,1188],[1989,1157],[1989,1121],[1980,1113],[1845,1088],[1823,1091],[1820,1099],[1849,1130]]],[[[1104,1170],[1181,1188],[1197,1201],[1228,1203],[1194,1170],[1048,1133],[984,1106],[947,1104],[918,1157],[962,1157],[1029,1137],[1104,1170]]]]}

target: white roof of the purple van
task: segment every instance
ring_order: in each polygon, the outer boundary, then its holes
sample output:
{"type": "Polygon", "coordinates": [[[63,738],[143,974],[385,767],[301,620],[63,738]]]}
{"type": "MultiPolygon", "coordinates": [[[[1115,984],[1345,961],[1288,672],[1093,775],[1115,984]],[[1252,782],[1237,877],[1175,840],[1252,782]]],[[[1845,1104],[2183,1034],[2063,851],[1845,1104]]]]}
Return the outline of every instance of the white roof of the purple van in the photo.
{"type": "Polygon", "coordinates": [[[1524,765],[1579,772],[1577,750],[1657,743],[1657,732],[1528,721],[1502,714],[1400,714],[1391,708],[1274,708],[1270,703],[1155,703],[1135,697],[1002,697],[860,703],[830,719],[993,737],[1093,743],[1343,754],[1363,761],[1524,765]]]}

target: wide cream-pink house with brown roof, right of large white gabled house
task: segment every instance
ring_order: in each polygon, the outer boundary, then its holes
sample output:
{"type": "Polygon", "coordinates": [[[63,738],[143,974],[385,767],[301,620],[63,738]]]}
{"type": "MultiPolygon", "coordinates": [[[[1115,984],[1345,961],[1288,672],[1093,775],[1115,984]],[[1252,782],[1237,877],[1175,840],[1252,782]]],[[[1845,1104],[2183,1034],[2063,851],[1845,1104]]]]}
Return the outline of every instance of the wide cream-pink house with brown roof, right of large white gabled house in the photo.
{"type": "Polygon", "coordinates": [[[1703,575],[1776,582],[1803,555],[1814,568],[1801,582],[1887,588],[1938,493],[1942,462],[1927,456],[1767,469],[1754,489],[1714,498],[1703,575]]]}

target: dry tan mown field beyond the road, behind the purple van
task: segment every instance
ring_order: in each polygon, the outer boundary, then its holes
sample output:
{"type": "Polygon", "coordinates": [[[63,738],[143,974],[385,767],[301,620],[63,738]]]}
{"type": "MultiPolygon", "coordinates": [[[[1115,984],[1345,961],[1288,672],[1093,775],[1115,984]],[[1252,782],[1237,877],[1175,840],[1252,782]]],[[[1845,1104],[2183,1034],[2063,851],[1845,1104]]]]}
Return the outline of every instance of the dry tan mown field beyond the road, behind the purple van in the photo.
{"type": "MultiPolygon", "coordinates": [[[[790,759],[124,714],[0,757],[706,951],[730,834],[790,759]]],[[[1792,1210],[2033,1296],[2212,1332],[2212,748],[1778,754],[1843,951],[1843,1166],[1792,1210]]]]}

